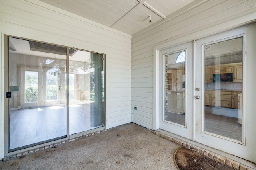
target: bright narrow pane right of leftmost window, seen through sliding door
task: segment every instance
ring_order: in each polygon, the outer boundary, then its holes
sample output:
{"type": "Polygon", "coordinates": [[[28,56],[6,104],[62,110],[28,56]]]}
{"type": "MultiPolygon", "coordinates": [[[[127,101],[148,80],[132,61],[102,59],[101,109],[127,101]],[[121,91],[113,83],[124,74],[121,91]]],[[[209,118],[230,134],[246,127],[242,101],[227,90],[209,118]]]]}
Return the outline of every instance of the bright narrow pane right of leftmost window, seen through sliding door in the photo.
{"type": "Polygon", "coordinates": [[[46,95],[47,102],[58,100],[58,76],[46,74],[46,95]]]}

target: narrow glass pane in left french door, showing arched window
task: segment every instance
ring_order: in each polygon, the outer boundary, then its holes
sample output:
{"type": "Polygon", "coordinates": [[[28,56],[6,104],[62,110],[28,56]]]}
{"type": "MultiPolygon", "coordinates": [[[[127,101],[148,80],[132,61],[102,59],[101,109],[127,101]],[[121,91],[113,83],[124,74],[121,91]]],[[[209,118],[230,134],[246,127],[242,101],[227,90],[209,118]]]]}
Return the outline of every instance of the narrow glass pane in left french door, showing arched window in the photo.
{"type": "Polygon", "coordinates": [[[185,60],[186,50],[165,56],[166,106],[164,120],[183,126],[185,126],[185,60]]]}

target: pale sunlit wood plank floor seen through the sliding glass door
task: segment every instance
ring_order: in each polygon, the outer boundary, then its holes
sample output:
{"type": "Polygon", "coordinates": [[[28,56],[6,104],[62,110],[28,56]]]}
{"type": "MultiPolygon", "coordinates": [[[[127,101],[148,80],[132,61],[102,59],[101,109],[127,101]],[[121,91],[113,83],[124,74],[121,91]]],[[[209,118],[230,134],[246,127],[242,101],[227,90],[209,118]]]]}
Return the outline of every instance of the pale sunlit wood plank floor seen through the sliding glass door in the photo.
{"type": "MultiPolygon", "coordinates": [[[[90,104],[70,105],[70,134],[94,129],[90,104]]],[[[10,111],[10,149],[47,141],[67,134],[66,106],[10,111]]]]}

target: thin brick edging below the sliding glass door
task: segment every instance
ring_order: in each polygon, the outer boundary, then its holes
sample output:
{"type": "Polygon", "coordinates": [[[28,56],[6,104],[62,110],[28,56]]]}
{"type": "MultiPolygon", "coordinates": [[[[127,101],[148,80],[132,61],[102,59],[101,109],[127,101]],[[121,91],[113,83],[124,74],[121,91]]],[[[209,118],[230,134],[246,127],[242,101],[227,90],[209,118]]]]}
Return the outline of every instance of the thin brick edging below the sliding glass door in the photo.
{"type": "Polygon", "coordinates": [[[86,134],[86,135],[82,135],[80,137],[74,137],[74,138],[70,138],[70,139],[67,139],[65,141],[61,141],[61,142],[58,142],[58,143],[53,143],[53,144],[50,144],[50,145],[46,145],[44,147],[40,147],[40,148],[36,148],[36,149],[32,149],[32,150],[27,150],[27,151],[24,151],[24,152],[21,152],[21,153],[17,153],[17,154],[13,154],[13,155],[10,155],[10,156],[6,156],[2,159],[2,161],[7,161],[7,160],[11,160],[11,159],[14,159],[14,158],[18,158],[20,156],[25,156],[27,154],[31,154],[31,153],[34,153],[34,152],[38,152],[40,150],[44,150],[44,149],[48,149],[48,148],[52,148],[52,147],[55,147],[57,145],[61,145],[61,144],[64,144],[64,143],[68,143],[68,142],[72,142],[72,141],[76,141],[78,139],[82,139],[82,138],[85,138],[85,137],[89,137],[89,136],[92,136],[92,135],[95,135],[97,133],[102,133],[104,131],[107,131],[107,129],[104,129],[104,130],[101,130],[101,131],[97,131],[97,132],[94,132],[94,133],[89,133],[89,134],[86,134]]]}

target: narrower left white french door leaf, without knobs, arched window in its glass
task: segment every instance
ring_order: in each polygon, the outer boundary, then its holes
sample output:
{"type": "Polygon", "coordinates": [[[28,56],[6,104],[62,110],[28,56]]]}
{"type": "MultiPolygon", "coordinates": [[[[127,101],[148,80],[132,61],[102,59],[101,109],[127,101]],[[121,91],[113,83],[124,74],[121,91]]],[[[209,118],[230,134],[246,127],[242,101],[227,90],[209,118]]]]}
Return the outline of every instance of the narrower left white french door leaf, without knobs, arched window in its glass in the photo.
{"type": "Polygon", "coordinates": [[[159,128],[192,139],[192,42],[159,51],[159,128]]]}

